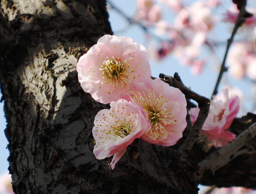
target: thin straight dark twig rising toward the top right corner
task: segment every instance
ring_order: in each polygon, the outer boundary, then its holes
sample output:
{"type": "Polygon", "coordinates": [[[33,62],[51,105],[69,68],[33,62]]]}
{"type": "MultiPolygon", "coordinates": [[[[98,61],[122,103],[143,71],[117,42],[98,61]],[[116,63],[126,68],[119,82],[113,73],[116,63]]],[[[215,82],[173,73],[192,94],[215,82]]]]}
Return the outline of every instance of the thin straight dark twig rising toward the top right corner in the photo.
{"type": "Polygon", "coordinates": [[[212,98],[218,93],[218,87],[219,87],[219,84],[220,84],[220,81],[221,81],[221,78],[223,76],[223,73],[225,71],[228,70],[228,68],[225,66],[225,63],[226,63],[226,59],[227,59],[227,56],[228,56],[228,52],[229,52],[229,48],[233,42],[233,39],[234,39],[234,36],[238,30],[238,28],[245,22],[246,18],[245,18],[245,14],[248,13],[246,12],[245,10],[245,4],[242,5],[241,9],[240,9],[240,12],[238,14],[238,17],[237,17],[237,20],[235,22],[235,27],[233,29],[233,32],[231,34],[231,37],[230,39],[228,40],[228,44],[227,44],[227,49],[226,49],[226,53],[225,53],[225,56],[223,58],[223,62],[221,64],[221,69],[220,69],[220,73],[219,73],[219,76],[218,76],[218,79],[217,79],[217,82],[216,82],[216,85],[215,85],[215,88],[214,88],[214,91],[212,93],[212,98]]]}

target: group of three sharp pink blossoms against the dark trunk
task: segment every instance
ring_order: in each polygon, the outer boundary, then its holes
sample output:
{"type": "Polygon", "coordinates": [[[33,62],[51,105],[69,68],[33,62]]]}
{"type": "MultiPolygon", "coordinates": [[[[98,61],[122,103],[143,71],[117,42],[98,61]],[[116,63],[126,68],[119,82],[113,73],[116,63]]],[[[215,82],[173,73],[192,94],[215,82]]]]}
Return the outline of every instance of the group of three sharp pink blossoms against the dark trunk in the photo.
{"type": "Polygon", "coordinates": [[[179,89],[151,79],[146,49],[129,37],[105,35],[77,63],[78,80],[98,102],[110,103],[95,116],[97,159],[113,155],[110,166],[134,139],[174,145],[187,126],[187,102],[179,89]]]}

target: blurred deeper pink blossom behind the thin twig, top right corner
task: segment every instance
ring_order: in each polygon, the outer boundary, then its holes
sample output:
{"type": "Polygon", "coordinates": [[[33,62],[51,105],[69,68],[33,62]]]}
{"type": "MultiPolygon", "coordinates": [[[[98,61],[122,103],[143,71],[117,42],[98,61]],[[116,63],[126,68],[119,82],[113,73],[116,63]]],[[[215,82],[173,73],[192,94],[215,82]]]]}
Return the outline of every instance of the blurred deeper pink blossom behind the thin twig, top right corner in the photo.
{"type": "MultiPolygon", "coordinates": [[[[246,8],[249,13],[252,13],[253,16],[250,18],[246,18],[245,22],[243,23],[243,26],[254,28],[256,26],[256,11],[252,8],[246,8]]],[[[230,22],[235,23],[237,20],[239,14],[239,10],[236,6],[231,6],[230,10],[227,11],[226,14],[224,14],[224,18],[222,19],[223,22],[230,22]]]]}

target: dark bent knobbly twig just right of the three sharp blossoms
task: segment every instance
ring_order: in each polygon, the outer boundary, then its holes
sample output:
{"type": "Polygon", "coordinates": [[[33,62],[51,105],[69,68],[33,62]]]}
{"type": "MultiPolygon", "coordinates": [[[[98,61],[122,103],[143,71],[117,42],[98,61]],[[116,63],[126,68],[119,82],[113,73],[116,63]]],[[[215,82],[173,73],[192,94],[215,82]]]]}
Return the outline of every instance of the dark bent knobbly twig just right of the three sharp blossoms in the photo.
{"type": "Polygon", "coordinates": [[[187,88],[182,83],[178,73],[175,73],[174,77],[166,76],[161,73],[159,77],[162,78],[162,80],[168,83],[170,86],[180,89],[181,92],[185,94],[186,98],[195,100],[198,103],[198,107],[200,108],[197,120],[194,123],[191,132],[189,133],[188,137],[186,138],[186,140],[178,150],[182,154],[181,159],[185,160],[190,150],[192,149],[196,139],[198,138],[199,133],[203,127],[204,121],[208,116],[209,108],[210,108],[210,100],[206,97],[196,94],[195,92],[187,88]]]}

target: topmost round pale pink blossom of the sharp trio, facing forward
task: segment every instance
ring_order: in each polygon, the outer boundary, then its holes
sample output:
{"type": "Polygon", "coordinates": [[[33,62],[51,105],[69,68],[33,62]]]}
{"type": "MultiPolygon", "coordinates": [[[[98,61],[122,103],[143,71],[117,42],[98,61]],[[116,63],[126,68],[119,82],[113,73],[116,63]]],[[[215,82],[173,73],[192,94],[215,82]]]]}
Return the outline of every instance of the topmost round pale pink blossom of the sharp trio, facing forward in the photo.
{"type": "Polygon", "coordinates": [[[129,37],[105,35],[77,63],[85,92],[101,103],[120,99],[132,82],[150,79],[146,48],[129,37]]]}

